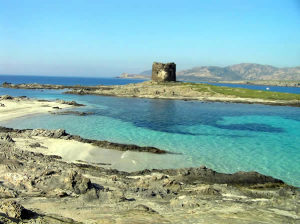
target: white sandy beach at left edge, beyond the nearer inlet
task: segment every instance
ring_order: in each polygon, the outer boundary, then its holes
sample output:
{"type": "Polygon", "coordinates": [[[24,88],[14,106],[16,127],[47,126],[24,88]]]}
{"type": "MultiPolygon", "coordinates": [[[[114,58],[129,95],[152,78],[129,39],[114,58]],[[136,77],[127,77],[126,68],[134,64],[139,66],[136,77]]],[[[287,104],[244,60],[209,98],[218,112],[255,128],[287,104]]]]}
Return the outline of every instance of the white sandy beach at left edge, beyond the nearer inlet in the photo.
{"type": "Polygon", "coordinates": [[[41,102],[33,99],[0,100],[0,103],[5,105],[4,107],[0,106],[0,122],[27,115],[48,113],[58,110],[53,109],[53,107],[59,107],[61,109],[72,107],[71,105],[58,102],[41,102]]]}

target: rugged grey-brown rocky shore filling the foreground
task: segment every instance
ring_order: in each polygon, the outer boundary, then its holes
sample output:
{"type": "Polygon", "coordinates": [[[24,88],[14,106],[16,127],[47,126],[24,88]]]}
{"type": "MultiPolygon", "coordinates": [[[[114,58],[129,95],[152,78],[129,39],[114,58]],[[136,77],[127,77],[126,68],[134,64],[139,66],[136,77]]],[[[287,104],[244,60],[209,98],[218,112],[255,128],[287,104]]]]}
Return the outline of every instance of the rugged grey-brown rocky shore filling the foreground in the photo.
{"type": "Polygon", "coordinates": [[[21,138],[36,136],[73,139],[62,130],[0,128],[0,223],[296,223],[300,219],[299,191],[257,172],[223,174],[205,166],[121,172],[19,147],[21,138]]]}

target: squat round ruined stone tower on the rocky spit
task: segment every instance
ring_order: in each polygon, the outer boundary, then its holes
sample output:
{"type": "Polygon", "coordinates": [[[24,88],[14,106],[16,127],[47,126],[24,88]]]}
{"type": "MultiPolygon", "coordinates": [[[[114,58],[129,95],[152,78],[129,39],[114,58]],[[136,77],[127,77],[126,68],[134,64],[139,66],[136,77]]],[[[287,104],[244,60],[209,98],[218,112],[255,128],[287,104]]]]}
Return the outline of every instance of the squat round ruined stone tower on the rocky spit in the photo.
{"type": "Polygon", "coordinates": [[[176,81],[176,64],[153,62],[152,80],[156,82],[176,81]]]}

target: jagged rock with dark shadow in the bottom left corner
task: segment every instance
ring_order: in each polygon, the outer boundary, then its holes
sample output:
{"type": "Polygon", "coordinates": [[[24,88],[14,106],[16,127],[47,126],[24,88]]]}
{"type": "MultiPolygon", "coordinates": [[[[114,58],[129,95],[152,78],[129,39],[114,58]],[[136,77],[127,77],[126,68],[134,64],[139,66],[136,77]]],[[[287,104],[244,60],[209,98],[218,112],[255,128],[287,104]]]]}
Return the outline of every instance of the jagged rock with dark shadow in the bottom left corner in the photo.
{"type": "Polygon", "coordinates": [[[16,219],[27,219],[33,215],[33,212],[25,209],[16,201],[5,201],[0,204],[0,210],[8,217],[16,219]]]}

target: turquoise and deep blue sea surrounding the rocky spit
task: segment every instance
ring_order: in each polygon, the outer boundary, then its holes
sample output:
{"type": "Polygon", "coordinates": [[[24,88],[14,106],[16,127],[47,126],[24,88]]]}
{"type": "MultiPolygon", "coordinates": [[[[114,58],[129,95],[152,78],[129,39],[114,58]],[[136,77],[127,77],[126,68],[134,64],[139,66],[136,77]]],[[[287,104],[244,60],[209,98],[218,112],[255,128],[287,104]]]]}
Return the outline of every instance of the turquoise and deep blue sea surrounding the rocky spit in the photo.
{"type": "MultiPolygon", "coordinates": [[[[0,83],[123,85],[141,81],[143,80],[0,76],[0,83]]],[[[245,85],[244,88],[261,86],[245,85]]],[[[273,90],[273,87],[270,89],[273,90]]],[[[296,94],[300,93],[298,89],[300,88],[274,87],[274,91],[296,94]]],[[[1,122],[0,125],[12,128],[62,128],[85,138],[154,146],[176,153],[143,162],[136,167],[137,170],[205,165],[225,173],[257,171],[300,187],[298,107],[69,95],[64,94],[64,91],[0,88],[0,95],[75,100],[86,106],[72,110],[93,114],[40,114],[1,122]]]]}

